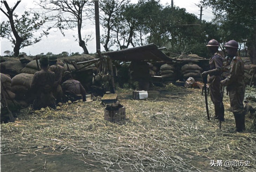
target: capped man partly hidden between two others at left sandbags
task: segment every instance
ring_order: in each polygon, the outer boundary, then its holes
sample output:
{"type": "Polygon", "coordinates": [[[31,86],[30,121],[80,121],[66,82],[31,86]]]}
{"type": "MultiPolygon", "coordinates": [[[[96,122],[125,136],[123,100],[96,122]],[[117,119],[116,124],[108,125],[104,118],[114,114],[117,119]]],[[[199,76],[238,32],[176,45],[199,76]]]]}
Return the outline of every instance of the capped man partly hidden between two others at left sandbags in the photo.
{"type": "Polygon", "coordinates": [[[55,80],[53,84],[53,95],[56,102],[62,102],[63,92],[60,86],[62,75],[64,73],[64,67],[57,64],[57,56],[49,57],[49,70],[55,73],[55,80]]]}

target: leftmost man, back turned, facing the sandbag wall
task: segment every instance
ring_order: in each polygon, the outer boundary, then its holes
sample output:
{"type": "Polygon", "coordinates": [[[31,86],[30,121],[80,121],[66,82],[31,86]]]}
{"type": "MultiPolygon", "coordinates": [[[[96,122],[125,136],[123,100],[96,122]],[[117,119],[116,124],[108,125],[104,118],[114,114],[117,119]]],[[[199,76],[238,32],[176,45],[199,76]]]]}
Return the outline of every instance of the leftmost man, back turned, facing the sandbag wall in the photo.
{"type": "Polygon", "coordinates": [[[53,96],[53,83],[55,74],[48,70],[48,57],[40,58],[41,71],[35,72],[31,83],[32,95],[35,95],[33,108],[35,110],[51,107],[55,108],[55,98],[53,96]]]}

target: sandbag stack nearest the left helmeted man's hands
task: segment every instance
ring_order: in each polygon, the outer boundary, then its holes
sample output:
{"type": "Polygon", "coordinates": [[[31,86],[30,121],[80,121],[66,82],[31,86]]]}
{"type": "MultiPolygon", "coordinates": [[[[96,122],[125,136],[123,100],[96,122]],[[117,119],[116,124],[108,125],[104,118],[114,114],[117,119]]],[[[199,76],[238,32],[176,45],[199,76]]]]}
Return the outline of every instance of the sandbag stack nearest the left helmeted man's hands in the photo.
{"type": "Polygon", "coordinates": [[[195,79],[195,81],[202,81],[202,71],[203,69],[197,64],[185,64],[181,67],[181,72],[183,74],[183,79],[187,80],[189,77],[195,79]]]}

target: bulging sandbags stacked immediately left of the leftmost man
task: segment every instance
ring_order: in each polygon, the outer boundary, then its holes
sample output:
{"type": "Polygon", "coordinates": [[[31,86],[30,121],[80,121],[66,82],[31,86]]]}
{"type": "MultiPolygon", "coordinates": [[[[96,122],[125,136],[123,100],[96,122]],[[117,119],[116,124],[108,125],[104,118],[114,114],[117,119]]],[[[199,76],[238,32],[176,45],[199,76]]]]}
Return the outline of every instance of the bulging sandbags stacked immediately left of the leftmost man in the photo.
{"type": "Polygon", "coordinates": [[[12,78],[11,91],[16,94],[15,100],[25,107],[32,103],[30,85],[33,76],[33,74],[29,73],[20,73],[12,78]]]}

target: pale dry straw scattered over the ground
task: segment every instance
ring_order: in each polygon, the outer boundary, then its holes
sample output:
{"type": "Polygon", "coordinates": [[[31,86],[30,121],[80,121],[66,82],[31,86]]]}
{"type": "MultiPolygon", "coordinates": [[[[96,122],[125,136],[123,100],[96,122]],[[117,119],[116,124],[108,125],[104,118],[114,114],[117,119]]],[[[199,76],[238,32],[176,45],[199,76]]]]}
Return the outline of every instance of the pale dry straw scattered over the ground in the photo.
{"type": "MultiPolygon", "coordinates": [[[[65,153],[82,165],[76,169],[70,160],[73,169],[61,171],[256,171],[253,120],[246,116],[247,130],[234,132],[227,95],[225,122],[219,130],[218,121],[207,120],[200,89],[172,85],[156,89],[159,98],[147,100],[132,100],[132,90],[118,89],[118,100],[126,108],[126,119],[119,123],[104,120],[99,98],[64,104],[58,111],[22,109],[14,123],[1,124],[1,159],[8,162],[19,156],[21,161],[32,155],[32,161],[44,155],[43,164],[26,171],[58,171],[48,165],[47,156],[65,153]],[[213,160],[222,160],[222,166],[211,166],[213,160]],[[226,161],[240,164],[225,167],[226,161]]],[[[247,94],[254,91],[247,89],[247,94]]],[[[208,102],[212,116],[210,97],[208,102]]],[[[2,169],[9,168],[2,163],[2,169]]],[[[12,169],[22,171],[22,165],[12,169]]]]}

